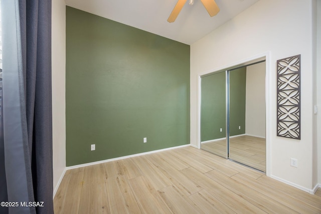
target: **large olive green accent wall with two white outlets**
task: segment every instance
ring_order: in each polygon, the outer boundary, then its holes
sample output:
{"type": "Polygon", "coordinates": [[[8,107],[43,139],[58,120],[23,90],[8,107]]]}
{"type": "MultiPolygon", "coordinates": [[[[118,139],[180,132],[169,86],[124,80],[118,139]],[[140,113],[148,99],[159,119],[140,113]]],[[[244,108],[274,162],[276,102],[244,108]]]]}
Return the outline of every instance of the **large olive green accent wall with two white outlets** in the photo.
{"type": "Polygon", "coordinates": [[[189,143],[190,46],[66,7],[67,166],[189,143]]]}

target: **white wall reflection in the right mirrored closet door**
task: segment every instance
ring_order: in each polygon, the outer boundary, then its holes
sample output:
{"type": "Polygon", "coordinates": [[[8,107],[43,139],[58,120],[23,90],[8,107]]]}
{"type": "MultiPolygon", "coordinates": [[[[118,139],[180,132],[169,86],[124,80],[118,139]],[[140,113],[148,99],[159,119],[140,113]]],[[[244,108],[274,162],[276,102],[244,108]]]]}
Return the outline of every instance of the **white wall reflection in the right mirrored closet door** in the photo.
{"type": "Polygon", "coordinates": [[[245,133],[265,138],[265,62],[246,67],[245,133]]]}

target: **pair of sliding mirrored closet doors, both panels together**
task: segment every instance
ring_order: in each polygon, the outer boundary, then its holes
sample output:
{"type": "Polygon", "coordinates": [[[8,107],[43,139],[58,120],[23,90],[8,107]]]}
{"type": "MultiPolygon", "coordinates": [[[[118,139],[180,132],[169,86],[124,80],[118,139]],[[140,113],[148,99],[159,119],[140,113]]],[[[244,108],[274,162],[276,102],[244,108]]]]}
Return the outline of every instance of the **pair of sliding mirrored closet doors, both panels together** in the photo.
{"type": "Polygon", "coordinates": [[[265,60],[201,78],[201,148],[265,171],[265,60]]]}

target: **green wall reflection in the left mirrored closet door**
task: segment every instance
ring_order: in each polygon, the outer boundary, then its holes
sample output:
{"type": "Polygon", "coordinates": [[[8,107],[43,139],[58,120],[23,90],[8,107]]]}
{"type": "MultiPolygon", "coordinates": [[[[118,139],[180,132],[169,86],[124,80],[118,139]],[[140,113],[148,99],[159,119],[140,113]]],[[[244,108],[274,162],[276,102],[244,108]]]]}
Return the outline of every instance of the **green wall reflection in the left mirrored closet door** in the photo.
{"type": "Polygon", "coordinates": [[[202,77],[201,141],[223,138],[226,135],[225,76],[225,72],[220,72],[202,77]]]}

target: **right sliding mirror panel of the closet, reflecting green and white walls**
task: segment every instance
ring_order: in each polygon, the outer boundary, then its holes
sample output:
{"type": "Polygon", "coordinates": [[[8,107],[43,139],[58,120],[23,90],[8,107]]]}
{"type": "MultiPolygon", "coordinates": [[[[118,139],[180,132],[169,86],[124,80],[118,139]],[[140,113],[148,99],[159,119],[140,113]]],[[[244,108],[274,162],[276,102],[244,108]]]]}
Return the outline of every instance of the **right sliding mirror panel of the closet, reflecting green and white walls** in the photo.
{"type": "Polygon", "coordinates": [[[229,158],[265,171],[265,62],[229,75],[229,158]]]}

